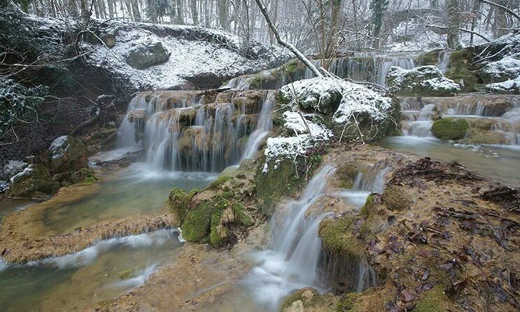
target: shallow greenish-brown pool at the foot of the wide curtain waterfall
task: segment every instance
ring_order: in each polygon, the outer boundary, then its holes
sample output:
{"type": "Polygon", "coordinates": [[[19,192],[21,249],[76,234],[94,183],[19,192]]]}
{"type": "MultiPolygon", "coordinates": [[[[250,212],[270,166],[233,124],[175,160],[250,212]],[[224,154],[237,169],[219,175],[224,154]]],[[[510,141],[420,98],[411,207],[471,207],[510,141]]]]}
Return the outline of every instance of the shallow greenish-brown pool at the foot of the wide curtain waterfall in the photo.
{"type": "Polygon", "coordinates": [[[47,208],[43,222],[54,234],[71,232],[104,220],[158,211],[172,187],[203,189],[215,173],[156,172],[135,163],[100,183],[96,192],[75,201],[47,208]]]}

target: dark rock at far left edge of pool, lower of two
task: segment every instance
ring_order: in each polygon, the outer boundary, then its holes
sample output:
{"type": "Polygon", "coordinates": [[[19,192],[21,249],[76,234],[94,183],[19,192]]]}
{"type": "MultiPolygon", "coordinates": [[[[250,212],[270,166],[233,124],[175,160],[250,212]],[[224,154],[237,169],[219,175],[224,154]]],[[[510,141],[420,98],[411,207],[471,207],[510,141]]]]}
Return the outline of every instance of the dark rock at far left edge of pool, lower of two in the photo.
{"type": "Polygon", "coordinates": [[[9,196],[43,198],[54,194],[59,183],[52,180],[49,171],[41,164],[30,164],[10,178],[9,196]]]}

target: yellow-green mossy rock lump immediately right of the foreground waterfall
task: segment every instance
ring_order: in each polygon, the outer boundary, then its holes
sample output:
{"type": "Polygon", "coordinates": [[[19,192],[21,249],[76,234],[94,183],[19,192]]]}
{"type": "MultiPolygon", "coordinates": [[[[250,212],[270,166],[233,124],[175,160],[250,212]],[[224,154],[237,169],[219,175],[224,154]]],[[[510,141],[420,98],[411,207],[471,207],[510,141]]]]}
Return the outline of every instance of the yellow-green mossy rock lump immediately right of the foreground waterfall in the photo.
{"type": "Polygon", "coordinates": [[[363,242],[353,234],[355,218],[342,216],[336,219],[324,219],[318,227],[318,237],[323,248],[340,255],[361,256],[363,242]]]}

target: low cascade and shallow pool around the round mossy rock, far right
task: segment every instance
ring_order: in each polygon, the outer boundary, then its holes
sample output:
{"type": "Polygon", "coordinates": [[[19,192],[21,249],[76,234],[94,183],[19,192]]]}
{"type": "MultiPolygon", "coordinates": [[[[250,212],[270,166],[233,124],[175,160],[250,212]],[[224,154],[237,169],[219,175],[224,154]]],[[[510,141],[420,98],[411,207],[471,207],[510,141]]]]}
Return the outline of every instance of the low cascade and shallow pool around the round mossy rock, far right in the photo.
{"type": "MultiPolygon", "coordinates": [[[[500,98],[498,98],[500,100],[500,98]]],[[[380,145],[393,150],[432,157],[442,162],[459,162],[471,171],[508,185],[520,185],[520,98],[504,96],[510,101],[510,109],[493,110],[493,101],[457,98],[423,98],[402,100],[403,136],[385,138],[380,145]],[[430,131],[434,111],[444,117],[461,117],[468,120],[491,121],[493,131],[503,134],[503,145],[461,144],[436,139],[430,131]]],[[[497,101],[496,99],[494,100],[497,101]]]]}

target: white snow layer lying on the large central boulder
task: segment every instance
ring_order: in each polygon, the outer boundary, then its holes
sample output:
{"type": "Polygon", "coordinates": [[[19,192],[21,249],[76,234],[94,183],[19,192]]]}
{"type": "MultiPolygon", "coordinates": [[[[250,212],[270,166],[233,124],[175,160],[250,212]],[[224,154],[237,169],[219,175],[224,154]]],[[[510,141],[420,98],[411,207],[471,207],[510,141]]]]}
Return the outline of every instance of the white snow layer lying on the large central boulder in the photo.
{"type": "MultiPolygon", "coordinates": [[[[328,112],[332,101],[339,101],[333,120],[339,124],[356,122],[353,116],[369,116],[373,120],[383,120],[391,109],[391,99],[381,96],[363,85],[350,83],[332,77],[316,77],[299,80],[280,89],[286,99],[295,95],[302,108],[328,112]]],[[[262,172],[267,172],[268,162],[274,161],[274,169],[281,159],[294,159],[304,155],[317,143],[330,140],[334,134],[321,122],[320,115],[302,113],[296,101],[289,101],[282,113],[283,125],[287,136],[267,139],[265,148],[266,163],[262,172]],[[290,135],[290,136],[289,136],[290,135]]],[[[330,112],[332,113],[332,112],[330,112]]]]}

